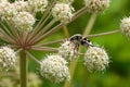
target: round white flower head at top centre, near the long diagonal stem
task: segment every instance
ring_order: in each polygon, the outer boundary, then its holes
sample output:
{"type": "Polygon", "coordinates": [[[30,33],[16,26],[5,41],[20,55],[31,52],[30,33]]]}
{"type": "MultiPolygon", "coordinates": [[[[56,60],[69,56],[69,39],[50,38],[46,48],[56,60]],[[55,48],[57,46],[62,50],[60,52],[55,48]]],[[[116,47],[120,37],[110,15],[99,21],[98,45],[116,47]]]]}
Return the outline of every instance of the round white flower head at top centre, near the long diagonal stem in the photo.
{"type": "Polygon", "coordinates": [[[52,15],[57,21],[69,21],[73,17],[74,9],[66,3],[56,3],[52,9],[52,15]]]}

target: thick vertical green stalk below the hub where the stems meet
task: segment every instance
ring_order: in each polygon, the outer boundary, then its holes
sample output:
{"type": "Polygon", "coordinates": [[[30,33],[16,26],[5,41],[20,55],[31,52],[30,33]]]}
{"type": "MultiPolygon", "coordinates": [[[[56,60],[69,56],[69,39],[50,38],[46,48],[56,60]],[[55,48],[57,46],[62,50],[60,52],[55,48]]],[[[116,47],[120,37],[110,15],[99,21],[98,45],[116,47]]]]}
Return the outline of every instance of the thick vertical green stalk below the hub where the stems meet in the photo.
{"type": "Polygon", "coordinates": [[[21,66],[21,87],[27,87],[27,58],[24,51],[21,51],[20,66],[21,66]]]}

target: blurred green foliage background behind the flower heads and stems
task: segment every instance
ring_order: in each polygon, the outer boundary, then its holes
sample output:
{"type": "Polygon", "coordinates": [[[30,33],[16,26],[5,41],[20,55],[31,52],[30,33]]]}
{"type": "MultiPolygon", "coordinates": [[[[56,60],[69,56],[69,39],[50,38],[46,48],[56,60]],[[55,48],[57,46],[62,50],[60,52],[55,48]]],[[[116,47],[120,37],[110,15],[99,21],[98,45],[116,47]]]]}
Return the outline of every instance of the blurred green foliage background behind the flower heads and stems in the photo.
{"type": "MultiPolygon", "coordinates": [[[[76,11],[83,5],[83,0],[75,0],[76,11]]],[[[68,24],[69,35],[82,34],[91,14],[83,14],[73,23],[68,24]]],[[[90,34],[104,33],[119,29],[120,20],[130,16],[130,0],[112,0],[110,7],[103,14],[99,14],[90,34]]],[[[63,30],[58,30],[43,41],[65,38],[63,30]]],[[[121,34],[95,37],[91,39],[93,44],[103,46],[110,59],[109,66],[105,72],[89,73],[83,66],[83,59],[80,58],[72,82],[73,87],[130,87],[130,40],[121,34]]],[[[55,45],[54,45],[55,46],[55,45]]],[[[56,45],[58,46],[58,45],[56,45]]],[[[49,53],[35,52],[41,60],[49,53]]],[[[39,65],[29,60],[29,72],[39,74],[39,65]]],[[[40,76],[40,75],[39,75],[40,76]]],[[[54,84],[44,79],[41,87],[63,87],[64,83],[54,84]]],[[[35,80],[35,79],[34,79],[35,80]]]]}

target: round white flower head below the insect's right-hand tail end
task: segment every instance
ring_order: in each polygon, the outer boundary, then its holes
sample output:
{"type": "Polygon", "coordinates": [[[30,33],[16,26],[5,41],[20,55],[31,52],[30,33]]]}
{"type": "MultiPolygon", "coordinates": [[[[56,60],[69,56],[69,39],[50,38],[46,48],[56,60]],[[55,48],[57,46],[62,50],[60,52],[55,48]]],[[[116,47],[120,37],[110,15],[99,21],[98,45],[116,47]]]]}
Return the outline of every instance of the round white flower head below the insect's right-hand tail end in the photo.
{"type": "Polygon", "coordinates": [[[109,59],[103,48],[90,47],[84,54],[84,65],[91,71],[103,71],[108,66],[109,59]]]}

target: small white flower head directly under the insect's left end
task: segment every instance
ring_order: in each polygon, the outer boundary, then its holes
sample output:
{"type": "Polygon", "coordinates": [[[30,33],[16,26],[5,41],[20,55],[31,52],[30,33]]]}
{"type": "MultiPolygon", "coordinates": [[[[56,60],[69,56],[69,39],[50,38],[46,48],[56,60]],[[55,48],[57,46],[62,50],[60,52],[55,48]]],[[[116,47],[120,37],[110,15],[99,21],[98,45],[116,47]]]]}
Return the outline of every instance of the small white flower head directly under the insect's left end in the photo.
{"type": "Polygon", "coordinates": [[[72,61],[78,58],[78,49],[76,48],[75,44],[70,41],[65,41],[58,48],[58,54],[62,55],[66,61],[72,61]]]}

